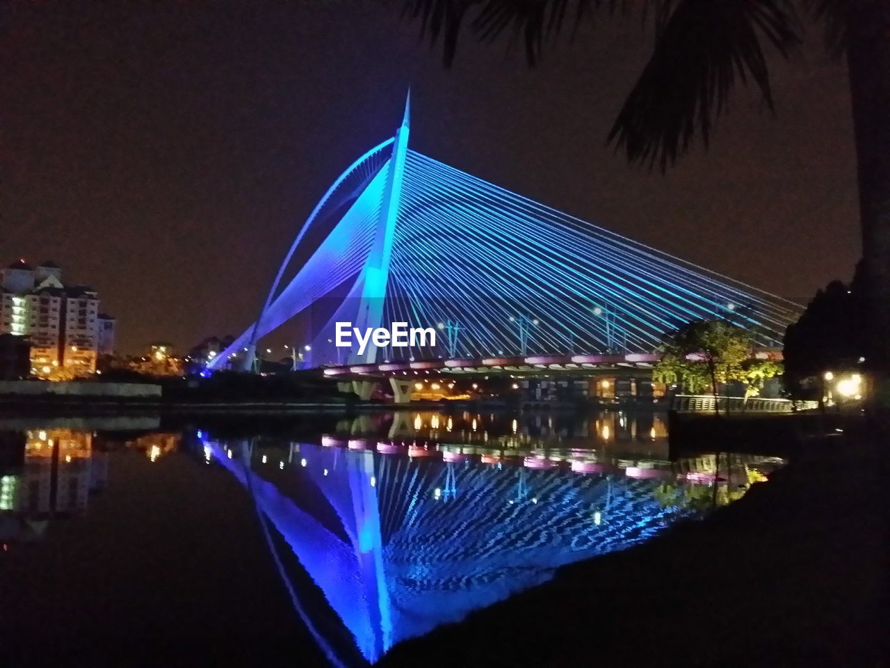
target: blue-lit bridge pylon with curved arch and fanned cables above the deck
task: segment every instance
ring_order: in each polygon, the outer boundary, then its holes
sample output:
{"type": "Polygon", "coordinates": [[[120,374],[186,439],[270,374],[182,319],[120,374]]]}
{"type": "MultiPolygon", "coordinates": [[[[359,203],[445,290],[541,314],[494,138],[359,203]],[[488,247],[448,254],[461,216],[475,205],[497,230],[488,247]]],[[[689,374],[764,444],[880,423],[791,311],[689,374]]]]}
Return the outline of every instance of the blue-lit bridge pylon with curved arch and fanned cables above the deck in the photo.
{"type": "Polygon", "coordinates": [[[252,368],[257,342],[311,314],[307,366],[651,354],[693,319],[781,345],[800,307],[409,149],[395,135],[330,186],[256,322],[209,364],[252,368]],[[291,265],[299,265],[295,271],[291,265]],[[335,323],[438,330],[436,346],[335,346],[335,323]]]}

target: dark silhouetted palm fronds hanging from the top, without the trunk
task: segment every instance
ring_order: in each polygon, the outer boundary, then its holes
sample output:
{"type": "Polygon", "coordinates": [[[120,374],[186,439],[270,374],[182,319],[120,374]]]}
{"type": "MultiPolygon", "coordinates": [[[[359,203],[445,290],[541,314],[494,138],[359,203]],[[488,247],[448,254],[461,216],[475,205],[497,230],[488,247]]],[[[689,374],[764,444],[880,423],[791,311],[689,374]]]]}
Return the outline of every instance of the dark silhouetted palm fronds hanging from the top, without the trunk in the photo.
{"type": "MultiPolygon", "coordinates": [[[[806,12],[826,26],[829,50],[845,46],[849,0],[803,0],[806,12]]],[[[765,45],[788,58],[800,44],[802,25],[791,0],[407,0],[405,13],[420,22],[421,37],[441,39],[446,66],[455,59],[462,32],[483,43],[503,35],[520,43],[534,65],[544,45],[572,32],[596,12],[638,13],[654,27],[650,61],[627,96],[609,134],[627,159],[661,170],[700,135],[708,145],[732,87],[752,82],[773,110],[765,45]]]]}

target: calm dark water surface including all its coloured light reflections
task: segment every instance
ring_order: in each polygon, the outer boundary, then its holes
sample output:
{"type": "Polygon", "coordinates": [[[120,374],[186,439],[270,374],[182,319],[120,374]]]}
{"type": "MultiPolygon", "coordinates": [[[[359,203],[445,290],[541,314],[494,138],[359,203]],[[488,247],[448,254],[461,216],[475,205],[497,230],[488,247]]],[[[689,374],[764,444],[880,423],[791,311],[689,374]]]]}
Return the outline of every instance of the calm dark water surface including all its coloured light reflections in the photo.
{"type": "Polygon", "coordinates": [[[0,422],[12,665],[373,663],[781,465],[669,460],[651,412],[235,424],[0,422]]]}

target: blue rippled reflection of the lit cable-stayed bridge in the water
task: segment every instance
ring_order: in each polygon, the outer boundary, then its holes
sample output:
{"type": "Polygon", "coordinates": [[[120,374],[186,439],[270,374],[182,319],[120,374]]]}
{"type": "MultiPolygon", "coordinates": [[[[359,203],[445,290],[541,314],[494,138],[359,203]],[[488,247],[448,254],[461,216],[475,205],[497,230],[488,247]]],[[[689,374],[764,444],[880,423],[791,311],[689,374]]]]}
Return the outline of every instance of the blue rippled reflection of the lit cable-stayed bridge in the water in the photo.
{"type": "MultiPolygon", "coordinates": [[[[579,466],[553,450],[511,457],[509,447],[469,444],[324,443],[204,448],[250,490],[263,524],[372,662],[559,566],[643,542],[711,500],[738,496],[758,467],[774,465],[736,456],[723,465],[727,477],[716,475],[713,456],[672,463],[587,452],[579,466]]],[[[298,598],[295,607],[312,625],[298,598]]]]}

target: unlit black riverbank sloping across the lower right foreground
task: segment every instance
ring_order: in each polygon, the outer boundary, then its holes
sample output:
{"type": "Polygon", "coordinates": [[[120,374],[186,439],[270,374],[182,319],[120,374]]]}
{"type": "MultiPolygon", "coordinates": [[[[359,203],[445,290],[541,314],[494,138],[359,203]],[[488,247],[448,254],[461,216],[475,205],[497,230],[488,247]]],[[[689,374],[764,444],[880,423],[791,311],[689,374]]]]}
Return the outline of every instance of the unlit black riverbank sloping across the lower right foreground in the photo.
{"type": "Polygon", "coordinates": [[[383,666],[886,665],[886,446],[809,444],[702,522],[561,569],[383,666]]]}

